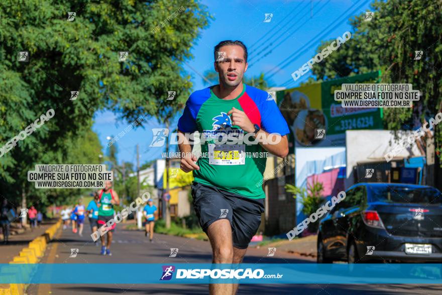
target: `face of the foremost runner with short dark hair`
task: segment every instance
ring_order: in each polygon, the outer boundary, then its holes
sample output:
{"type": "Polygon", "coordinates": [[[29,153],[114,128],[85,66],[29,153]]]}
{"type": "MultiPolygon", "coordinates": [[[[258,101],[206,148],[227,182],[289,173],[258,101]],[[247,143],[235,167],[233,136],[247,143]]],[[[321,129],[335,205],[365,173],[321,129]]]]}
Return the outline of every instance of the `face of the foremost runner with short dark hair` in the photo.
{"type": "Polygon", "coordinates": [[[227,87],[236,87],[242,80],[247,70],[247,63],[244,58],[244,49],[239,45],[226,45],[220,47],[216,52],[215,60],[220,56],[219,61],[215,61],[215,70],[219,74],[219,83],[227,87]],[[219,55],[218,52],[224,52],[219,55]]]}

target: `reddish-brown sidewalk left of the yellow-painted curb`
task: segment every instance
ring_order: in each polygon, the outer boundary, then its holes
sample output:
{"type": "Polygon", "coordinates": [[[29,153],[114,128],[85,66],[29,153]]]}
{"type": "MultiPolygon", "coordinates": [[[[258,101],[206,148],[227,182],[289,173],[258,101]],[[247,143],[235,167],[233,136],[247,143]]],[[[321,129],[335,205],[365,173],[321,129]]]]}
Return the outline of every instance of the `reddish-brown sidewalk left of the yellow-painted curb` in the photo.
{"type": "Polygon", "coordinates": [[[9,263],[14,259],[14,256],[20,254],[23,248],[28,247],[29,242],[41,236],[45,231],[57,220],[48,220],[42,223],[40,228],[34,228],[32,230],[27,229],[24,233],[9,236],[9,243],[3,244],[3,239],[0,241],[0,263],[9,263]]]}

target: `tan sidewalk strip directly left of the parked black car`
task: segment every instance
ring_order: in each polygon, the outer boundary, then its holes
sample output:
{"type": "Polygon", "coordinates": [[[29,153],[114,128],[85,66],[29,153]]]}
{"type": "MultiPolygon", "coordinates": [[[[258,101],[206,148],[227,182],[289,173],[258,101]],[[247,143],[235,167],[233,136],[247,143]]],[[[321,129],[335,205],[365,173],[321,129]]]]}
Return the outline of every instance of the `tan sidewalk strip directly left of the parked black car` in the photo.
{"type": "Polygon", "coordinates": [[[293,239],[291,241],[287,239],[284,241],[266,244],[264,246],[257,246],[256,248],[275,247],[276,251],[284,251],[301,256],[316,258],[316,243],[317,243],[317,236],[312,235],[305,238],[293,239]]]}

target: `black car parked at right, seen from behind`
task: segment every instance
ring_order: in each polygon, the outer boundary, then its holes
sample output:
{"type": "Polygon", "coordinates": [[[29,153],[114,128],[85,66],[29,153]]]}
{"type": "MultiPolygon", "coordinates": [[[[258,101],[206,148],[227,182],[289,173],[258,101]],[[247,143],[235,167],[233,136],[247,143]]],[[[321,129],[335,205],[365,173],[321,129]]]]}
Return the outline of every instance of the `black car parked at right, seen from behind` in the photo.
{"type": "Polygon", "coordinates": [[[441,262],[442,194],[430,186],[358,183],[319,221],[317,262],[441,262]]]}

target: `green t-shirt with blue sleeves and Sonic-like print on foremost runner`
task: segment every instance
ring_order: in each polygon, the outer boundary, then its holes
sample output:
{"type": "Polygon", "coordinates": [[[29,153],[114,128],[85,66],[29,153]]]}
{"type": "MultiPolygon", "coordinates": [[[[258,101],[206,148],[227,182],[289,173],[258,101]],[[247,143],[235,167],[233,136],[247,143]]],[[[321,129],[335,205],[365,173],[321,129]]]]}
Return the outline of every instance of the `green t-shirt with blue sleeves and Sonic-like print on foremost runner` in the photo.
{"type": "MultiPolygon", "coordinates": [[[[184,133],[199,131],[201,153],[193,170],[196,182],[216,186],[252,199],[263,199],[263,173],[267,152],[259,144],[217,144],[219,136],[245,136],[238,126],[232,126],[232,108],[246,113],[252,124],[269,133],[286,135],[289,129],[275,101],[266,91],[243,84],[243,91],[233,100],[217,97],[212,87],[193,92],[186,102],[178,129],[184,133]],[[269,98],[270,97],[270,98],[269,98]],[[206,154],[205,154],[206,153],[206,154]],[[207,154],[209,156],[207,156],[207,154]],[[211,155],[211,156],[210,156],[211,155]]],[[[250,137],[250,140],[254,140],[250,137]]]]}

